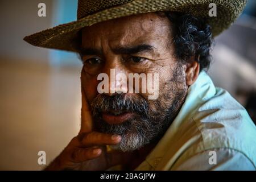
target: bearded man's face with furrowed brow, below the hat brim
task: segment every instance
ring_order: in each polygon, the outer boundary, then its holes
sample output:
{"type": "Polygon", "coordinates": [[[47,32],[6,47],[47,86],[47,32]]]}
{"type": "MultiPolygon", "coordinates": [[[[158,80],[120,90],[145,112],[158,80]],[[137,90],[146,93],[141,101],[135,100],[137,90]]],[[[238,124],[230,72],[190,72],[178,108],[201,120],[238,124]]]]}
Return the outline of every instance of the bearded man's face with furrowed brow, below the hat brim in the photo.
{"type": "MultiPolygon", "coordinates": [[[[95,129],[122,136],[115,146],[119,150],[135,150],[162,137],[184,101],[185,71],[175,59],[171,39],[171,23],[155,13],[108,20],[82,30],[82,94],[92,106],[95,129]],[[127,78],[129,73],[158,74],[158,98],[149,100],[148,92],[98,93],[97,77],[106,73],[110,81],[110,69],[127,78]]],[[[121,80],[114,80],[109,87],[120,88],[121,80]]],[[[141,90],[142,81],[137,86],[141,90]]]]}

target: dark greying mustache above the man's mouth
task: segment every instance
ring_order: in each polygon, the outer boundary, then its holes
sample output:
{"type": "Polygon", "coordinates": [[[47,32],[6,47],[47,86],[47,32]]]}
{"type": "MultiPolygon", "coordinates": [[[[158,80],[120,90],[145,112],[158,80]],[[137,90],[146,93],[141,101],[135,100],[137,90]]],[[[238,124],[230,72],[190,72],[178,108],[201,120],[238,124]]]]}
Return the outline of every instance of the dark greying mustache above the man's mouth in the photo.
{"type": "Polygon", "coordinates": [[[93,115],[108,111],[129,111],[138,114],[148,113],[148,102],[139,94],[98,94],[91,103],[93,115]]]}

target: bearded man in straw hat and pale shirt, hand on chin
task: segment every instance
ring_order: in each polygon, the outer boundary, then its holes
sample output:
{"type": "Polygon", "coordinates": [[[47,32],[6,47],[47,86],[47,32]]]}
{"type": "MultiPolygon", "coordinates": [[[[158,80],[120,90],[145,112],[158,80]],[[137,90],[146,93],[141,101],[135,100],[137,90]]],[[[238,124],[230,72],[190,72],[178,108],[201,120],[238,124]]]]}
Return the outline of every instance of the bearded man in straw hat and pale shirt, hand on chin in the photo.
{"type": "Polygon", "coordinates": [[[84,64],[81,130],[46,169],[254,170],[255,125],[204,71],[213,36],[245,3],[80,0],[77,21],[24,38],[77,52],[84,64]],[[123,81],[131,73],[154,79],[123,81]]]}

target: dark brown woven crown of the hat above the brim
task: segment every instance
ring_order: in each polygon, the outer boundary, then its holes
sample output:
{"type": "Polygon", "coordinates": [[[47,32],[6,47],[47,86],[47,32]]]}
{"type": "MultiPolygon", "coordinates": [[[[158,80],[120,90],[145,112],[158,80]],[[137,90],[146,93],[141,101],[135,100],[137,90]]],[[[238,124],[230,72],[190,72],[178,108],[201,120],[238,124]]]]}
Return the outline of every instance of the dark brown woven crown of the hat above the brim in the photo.
{"type": "Polygon", "coordinates": [[[97,13],[110,7],[123,5],[133,0],[79,0],[77,7],[77,19],[97,13]]]}

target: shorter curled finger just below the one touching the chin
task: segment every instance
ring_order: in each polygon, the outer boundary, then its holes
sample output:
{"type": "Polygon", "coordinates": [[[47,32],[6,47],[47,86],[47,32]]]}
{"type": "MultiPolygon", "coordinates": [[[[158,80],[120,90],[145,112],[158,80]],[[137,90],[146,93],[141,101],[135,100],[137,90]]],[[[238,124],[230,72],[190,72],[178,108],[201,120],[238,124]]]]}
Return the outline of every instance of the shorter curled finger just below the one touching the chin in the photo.
{"type": "Polygon", "coordinates": [[[101,152],[101,148],[76,148],[71,154],[71,160],[74,163],[81,163],[97,158],[101,155],[101,152]]]}

